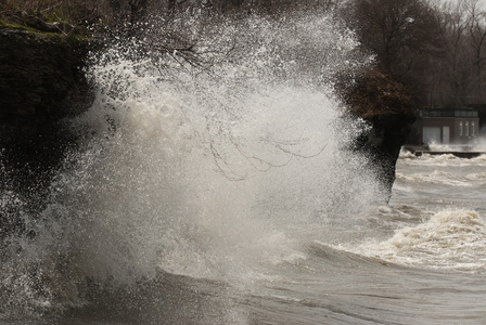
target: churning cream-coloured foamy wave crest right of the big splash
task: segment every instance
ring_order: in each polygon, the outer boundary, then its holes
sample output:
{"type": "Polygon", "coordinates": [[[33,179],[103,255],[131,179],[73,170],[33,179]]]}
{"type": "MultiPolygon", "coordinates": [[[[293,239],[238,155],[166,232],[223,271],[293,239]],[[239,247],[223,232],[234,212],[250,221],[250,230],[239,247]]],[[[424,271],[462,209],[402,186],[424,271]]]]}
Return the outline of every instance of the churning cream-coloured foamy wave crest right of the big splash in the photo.
{"type": "Polygon", "coordinates": [[[363,244],[357,251],[401,265],[483,273],[485,240],[484,219],[476,211],[444,210],[418,225],[396,230],[387,240],[363,244]]]}

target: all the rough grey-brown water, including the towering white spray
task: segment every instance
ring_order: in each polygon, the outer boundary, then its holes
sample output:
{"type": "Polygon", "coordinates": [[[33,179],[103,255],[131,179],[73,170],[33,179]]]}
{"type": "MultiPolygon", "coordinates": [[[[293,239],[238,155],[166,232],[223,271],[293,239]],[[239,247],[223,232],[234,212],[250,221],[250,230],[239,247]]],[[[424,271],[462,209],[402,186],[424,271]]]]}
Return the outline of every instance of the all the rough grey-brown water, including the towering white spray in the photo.
{"type": "Polygon", "coordinates": [[[197,66],[138,52],[157,26],[93,53],[44,204],[1,194],[0,323],[484,324],[486,157],[402,153],[385,205],[332,92],[353,32],[219,24],[197,66]]]}

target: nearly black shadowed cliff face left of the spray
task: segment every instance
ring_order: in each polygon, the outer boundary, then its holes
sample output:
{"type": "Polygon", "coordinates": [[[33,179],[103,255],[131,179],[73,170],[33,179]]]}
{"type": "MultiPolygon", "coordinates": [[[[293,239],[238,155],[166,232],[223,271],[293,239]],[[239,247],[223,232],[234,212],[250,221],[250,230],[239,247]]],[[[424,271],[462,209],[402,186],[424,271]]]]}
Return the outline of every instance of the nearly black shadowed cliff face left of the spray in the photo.
{"type": "MultiPolygon", "coordinates": [[[[88,43],[74,38],[0,26],[0,195],[14,192],[28,202],[24,212],[41,209],[54,171],[74,145],[63,118],[89,106],[81,72],[87,52],[88,43]]],[[[22,229],[12,216],[0,210],[0,239],[22,229]]]]}

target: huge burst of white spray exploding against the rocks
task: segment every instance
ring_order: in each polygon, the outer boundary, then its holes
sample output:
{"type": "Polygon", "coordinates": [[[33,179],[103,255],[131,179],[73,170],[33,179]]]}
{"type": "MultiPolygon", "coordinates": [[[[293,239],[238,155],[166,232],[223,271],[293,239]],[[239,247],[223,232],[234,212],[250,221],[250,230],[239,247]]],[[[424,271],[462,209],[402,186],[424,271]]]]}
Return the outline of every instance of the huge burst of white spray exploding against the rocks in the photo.
{"type": "MultiPolygon", "coordinates": [[[[22,249],[0,266],[12,274],[2,288],[37,290],[47,306],[76,301],[86,278],[130,285],[163,270],[244,282],[305,258],[295,225],[312,229],[378,195],[362,191],[378,186],[361,157],[340,152],[353,131],[336,128],[328,83],[344,58],[367,61],[348,30],[303,16],[203,31],[197,61],[155,42],[93,56],[94,103],[71,121],[79,148],[31,221],[36,237],[13,238],[22,249]]],[[[156,28],[144,32],[157,39],[156,28]]]]}

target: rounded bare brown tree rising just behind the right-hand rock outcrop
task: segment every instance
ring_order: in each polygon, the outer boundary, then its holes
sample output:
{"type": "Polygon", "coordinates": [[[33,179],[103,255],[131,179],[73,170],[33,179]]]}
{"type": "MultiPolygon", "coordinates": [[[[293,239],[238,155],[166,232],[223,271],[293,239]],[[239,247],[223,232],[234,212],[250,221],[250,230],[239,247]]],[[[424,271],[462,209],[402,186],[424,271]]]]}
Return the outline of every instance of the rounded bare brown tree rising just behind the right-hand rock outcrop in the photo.
{"type": "Polygon", "coordinates": [[[435,10],[424,0],[355,0],[353,11],[361,43],[376,55],[379,68],[408,84],[424,102],[430,62],[443,51],[435,10]]]}

